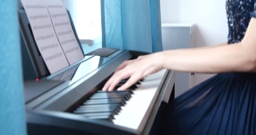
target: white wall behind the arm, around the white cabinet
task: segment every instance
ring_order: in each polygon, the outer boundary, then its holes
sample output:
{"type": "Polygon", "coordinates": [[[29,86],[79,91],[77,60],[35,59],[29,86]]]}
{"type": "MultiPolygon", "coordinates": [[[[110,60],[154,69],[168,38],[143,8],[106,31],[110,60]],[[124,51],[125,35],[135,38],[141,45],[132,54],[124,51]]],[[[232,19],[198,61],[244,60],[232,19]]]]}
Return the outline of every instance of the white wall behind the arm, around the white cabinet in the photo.
{"type": "MultiPolygon", "coordinates": [[[[226,1],[223,0],[160,0],[161,22],[195,24],[195,47],[227,41],[226,1]]],[[[194,84],[212,74],[195,74],[194,84]]]]}

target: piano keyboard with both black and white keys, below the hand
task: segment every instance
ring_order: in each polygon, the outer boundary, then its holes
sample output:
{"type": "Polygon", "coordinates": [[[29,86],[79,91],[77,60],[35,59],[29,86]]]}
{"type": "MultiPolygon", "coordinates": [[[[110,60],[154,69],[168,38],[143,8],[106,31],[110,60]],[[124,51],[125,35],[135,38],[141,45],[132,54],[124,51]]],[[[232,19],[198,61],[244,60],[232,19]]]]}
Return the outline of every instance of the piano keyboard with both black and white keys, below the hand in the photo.
{"type": "MultiPolygon", "coordinates": [[[[143,128],[141,125],[146,123],[150,115],[165,71],[164,69],[143,78],[129,90],[97,91],[73,113],[89,119],[108,120],[131,129],[143,128]]],[[[125,80],[120,82],[119,86],[123,83],[125,80]]]]}

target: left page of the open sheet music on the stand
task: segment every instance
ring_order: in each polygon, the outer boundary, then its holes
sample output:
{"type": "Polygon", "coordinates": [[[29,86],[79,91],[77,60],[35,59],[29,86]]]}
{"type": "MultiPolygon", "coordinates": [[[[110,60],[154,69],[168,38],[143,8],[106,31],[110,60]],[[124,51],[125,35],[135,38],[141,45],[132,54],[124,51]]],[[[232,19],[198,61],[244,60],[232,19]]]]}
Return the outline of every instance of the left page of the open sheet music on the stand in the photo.
{"type": "Polygon", "coordinates": [[[69,66],[45,3],[40,0],[21,0],[21,2],[28,16],[38,50],[50,73],[69,66]]]}

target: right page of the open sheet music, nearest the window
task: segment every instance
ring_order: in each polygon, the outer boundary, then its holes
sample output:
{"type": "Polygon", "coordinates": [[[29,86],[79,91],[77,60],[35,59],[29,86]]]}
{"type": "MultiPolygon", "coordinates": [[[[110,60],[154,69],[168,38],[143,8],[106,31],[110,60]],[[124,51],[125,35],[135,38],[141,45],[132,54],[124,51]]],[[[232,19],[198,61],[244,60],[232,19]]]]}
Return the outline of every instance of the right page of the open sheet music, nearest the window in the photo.
{"type": "Polygon", "coordinates": [[[64,4],[61,0],[45,0],[45,2],[52,19],[53,27],[55,28],[56,35],[69,64],[71,65],[82,60],[84,58],[83,52],[80,49],[77,38],[75,37],[64,4]]]}

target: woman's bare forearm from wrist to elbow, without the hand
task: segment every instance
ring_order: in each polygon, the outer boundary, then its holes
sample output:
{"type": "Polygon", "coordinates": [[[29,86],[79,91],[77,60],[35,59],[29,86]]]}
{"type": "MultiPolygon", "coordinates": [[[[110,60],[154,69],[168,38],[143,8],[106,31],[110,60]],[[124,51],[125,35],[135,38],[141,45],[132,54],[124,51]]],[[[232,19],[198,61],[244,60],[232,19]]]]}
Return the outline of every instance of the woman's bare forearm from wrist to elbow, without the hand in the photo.
{"type": "Polygon", "coordinates": [[[254,60],[247,48],[240,43],[192,50],[169,50],[161,52],[163,68],[196,73],[223,73],[231,71],[254,71],[254,60]]]}

